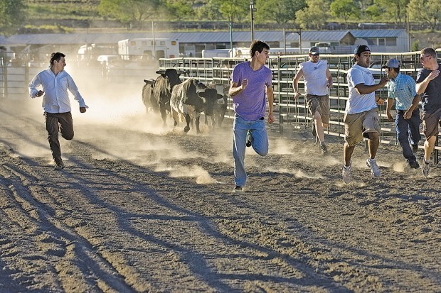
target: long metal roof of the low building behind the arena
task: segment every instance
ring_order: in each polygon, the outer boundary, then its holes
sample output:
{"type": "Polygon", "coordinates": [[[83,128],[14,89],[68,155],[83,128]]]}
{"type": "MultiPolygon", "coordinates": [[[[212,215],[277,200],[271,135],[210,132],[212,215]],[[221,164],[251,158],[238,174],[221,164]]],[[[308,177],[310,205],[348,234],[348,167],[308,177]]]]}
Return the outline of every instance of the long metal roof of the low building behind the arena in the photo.
{"type": "MultiPolygon", "coordinates": [[[[302,31],[302,41],[339,41],[346,35],[355,38],[398,37],[404,30],[351,30],[351,31],[302,31]]],[[[299,33],[285,31],[287,41],[298,41],[299,33]]],[[[233,31],[233,42],[251,40],[250,31],[233,31]]],[[[43,33],[11,35],[1,38],[0,44],[8,45],[75,45],[75,44],[117,44],[119,40],[129,38],[152,38],[152,32],[147,33],[43,33]]],[[[254,37],[266,42],[281,42],[282,31],[255,31],[254,37]]],[[[230,43],[229,32],[176,32],[155,33],[155,38],[177,39],[181,43],[230,43]]]]}

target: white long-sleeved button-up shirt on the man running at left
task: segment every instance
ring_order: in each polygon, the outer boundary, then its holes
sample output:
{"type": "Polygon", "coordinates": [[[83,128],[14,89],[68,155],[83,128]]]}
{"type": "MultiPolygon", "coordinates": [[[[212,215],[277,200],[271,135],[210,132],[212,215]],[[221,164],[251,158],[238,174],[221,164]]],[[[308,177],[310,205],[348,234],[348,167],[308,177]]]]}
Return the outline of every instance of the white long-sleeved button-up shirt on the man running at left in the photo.
{"type": "Polygon", "coordinates": [[[88,108],[72,77],[64,70],[55,76],[51,68],[38,72],[29,83],[29,96],[36,98],[38,87],[43,87],[43,110],[48,113],[70,112],[69,92],[80,107],[88,108]]]}

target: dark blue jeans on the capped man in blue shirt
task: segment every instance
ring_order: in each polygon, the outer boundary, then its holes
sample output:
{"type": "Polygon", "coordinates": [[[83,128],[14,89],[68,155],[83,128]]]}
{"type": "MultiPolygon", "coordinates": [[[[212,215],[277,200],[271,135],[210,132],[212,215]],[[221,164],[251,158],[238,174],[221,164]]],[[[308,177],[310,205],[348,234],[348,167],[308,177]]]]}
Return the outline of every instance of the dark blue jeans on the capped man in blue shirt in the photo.
{"type": "Polygon", "coordinates": [[[400,142],[401,148],[403,148],[403,156],[406,162],[416,161],[415,155],[413,155],[410,145],[418,145],[421,139],[420,135],[420,110],[415,109],[412,112],[412,117],[409,119],[404,118],[404,110],[398,110],[395,118],[395,126],[397,129],[397,138],[400,142]]]}

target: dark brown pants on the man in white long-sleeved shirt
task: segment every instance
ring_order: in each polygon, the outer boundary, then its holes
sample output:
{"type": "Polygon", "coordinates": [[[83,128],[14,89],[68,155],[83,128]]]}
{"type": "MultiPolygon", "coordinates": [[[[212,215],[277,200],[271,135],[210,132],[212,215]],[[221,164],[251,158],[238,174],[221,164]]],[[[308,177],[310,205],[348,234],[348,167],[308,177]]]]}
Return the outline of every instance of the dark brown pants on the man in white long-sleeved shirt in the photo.
{"type": "Polygon", "coordinates": [[[60,141],[58,140],[58,131],[66,140],[73,138],[72,114],[67,113],[48,113],[44,112],[46,118],[46,131],[48,131],[49,147],[52,151],[52,157],[56,164],[63,163],[61,160],[60,141]]]}

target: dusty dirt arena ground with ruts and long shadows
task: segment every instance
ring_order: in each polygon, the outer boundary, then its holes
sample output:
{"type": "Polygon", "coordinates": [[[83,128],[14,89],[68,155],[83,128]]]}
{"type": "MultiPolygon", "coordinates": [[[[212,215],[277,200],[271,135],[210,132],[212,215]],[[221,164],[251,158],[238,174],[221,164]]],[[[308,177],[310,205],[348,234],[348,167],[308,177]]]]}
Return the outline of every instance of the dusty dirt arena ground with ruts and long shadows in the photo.
{"type": "MultiPolygon", "coordinates": [[[[75,75],[73,75],[75,79],[75,75]]],[[[142,84],[80,82],[75,138],[53,170],[41,99],[0,99],[0,292],[440,292],[441,168],[381,145],[382,176],[307,131],[250,148],[231,194],[231,122],[162,128],[142,84]]],[[[274,128],[274,127],[272,127],[274,128]]]]}

